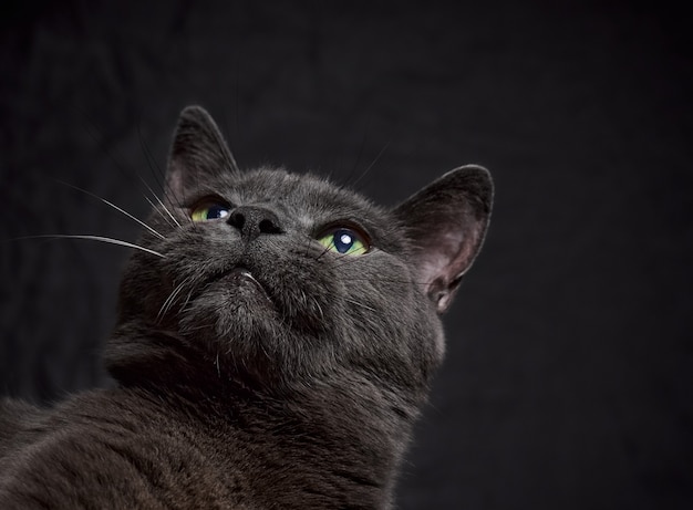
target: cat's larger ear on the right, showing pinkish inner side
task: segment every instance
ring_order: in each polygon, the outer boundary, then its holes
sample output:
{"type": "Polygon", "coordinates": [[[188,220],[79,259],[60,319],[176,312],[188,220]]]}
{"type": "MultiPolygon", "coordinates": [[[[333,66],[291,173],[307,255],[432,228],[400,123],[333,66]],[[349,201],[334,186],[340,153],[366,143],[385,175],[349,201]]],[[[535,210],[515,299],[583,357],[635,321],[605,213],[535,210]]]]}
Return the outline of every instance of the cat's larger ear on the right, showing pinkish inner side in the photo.
{"type": "Polygon", "coordinates": [[[412,242],[418,281],[438,313],[449,305],[486,235],[490,174],[476,165],[445,174],[395,209],[412,242]]]}

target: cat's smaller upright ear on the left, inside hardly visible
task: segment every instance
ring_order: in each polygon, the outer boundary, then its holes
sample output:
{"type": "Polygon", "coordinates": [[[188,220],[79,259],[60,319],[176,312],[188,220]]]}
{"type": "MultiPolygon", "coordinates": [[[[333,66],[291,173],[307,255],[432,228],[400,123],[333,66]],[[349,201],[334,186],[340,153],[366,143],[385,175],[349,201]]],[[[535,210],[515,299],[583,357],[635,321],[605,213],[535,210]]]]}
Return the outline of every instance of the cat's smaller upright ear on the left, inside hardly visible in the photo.
{"type": "Polygon", "coordinates": [[[177,201],[198,183],[237,171],[236,160],[211,115],[201,106],[183,110],[168,156],[166,194],[177,201]]]}

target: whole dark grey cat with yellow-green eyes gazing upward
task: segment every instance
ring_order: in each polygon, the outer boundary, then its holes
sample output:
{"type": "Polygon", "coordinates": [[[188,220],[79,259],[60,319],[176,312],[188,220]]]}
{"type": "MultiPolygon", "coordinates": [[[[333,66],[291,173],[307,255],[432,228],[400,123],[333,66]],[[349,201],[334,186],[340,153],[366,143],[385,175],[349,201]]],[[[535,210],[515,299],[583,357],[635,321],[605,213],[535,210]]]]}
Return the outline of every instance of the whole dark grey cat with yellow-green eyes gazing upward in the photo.
{"type": "Polygon", "coordinates": [[[186,108],[121,287],[117,387],[0,406],[0,508],[390,508],[490,205],[475,166],[393,210],[240,173],[186,108]]]}

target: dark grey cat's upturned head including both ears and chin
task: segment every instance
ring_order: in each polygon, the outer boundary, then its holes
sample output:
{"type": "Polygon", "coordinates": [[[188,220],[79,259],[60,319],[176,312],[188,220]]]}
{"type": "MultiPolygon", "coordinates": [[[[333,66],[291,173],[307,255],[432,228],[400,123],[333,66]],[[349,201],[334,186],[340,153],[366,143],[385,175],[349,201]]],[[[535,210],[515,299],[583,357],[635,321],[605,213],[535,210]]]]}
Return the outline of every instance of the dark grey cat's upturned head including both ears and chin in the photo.
{"type": "Polygon", "coordinates": [[[267,386],[352,373],[418,395],[492,192],[488,171],[466,166],[383,209],[312,175],[240,171],[188,107],[141,240],[162,257],[139,251],[126,269],[108,367],[131,383],[194,384],[190,366],[267,386]]]}

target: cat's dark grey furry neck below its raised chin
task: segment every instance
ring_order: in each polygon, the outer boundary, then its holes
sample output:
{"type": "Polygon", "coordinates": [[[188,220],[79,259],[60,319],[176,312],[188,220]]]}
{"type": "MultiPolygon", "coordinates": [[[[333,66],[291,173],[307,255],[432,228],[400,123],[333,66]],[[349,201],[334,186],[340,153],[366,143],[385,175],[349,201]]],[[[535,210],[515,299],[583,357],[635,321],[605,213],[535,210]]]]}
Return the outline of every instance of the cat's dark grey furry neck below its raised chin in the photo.
{"type": "Polygon", "coordinates": [[[255,464],[248,472],[256,475],[247,483],[260,503],[390,508],[417,406],[383,388],[382,381],[344,371],[278,392],[225,373],[210,361],[182,356],[165,366],[164,372],[147,372],[161,378],[126,386],[155,396],[152,402],[165,398],[177,419],[196,421],[190,427],[199,434],[223,434],[215,447],[221,454],[220,470],[232,471],[239,459],[255,464]],[[196,374],[195,379],[185,374],[196,374]]]}

